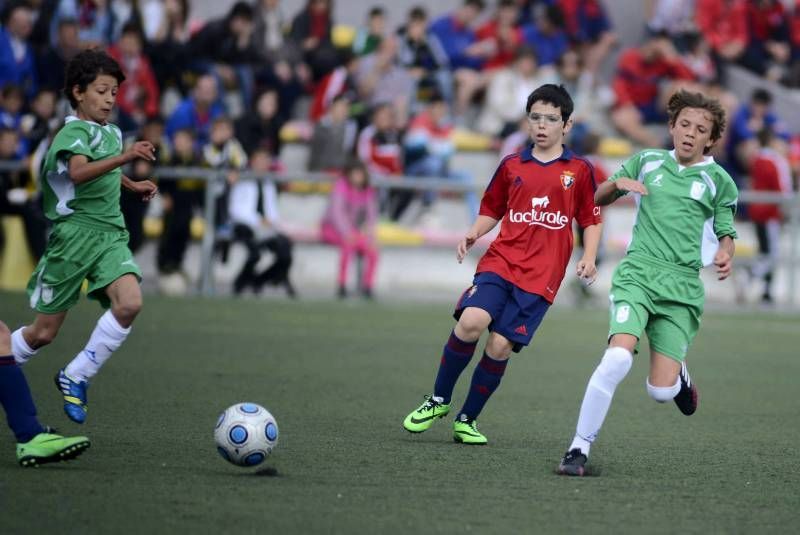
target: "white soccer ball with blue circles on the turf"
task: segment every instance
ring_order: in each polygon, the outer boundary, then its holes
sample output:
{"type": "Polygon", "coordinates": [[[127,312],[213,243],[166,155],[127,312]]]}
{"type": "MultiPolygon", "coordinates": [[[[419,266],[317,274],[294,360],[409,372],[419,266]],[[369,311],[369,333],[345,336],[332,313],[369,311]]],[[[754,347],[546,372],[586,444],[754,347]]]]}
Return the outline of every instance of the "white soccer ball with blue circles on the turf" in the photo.
{"type": "Polygon", "coordinates": [[[256,466],[264,462],[278,442],[278,423],[261,405],[237,403],[219,415],[214,441],[226,461],[256,466]]]}

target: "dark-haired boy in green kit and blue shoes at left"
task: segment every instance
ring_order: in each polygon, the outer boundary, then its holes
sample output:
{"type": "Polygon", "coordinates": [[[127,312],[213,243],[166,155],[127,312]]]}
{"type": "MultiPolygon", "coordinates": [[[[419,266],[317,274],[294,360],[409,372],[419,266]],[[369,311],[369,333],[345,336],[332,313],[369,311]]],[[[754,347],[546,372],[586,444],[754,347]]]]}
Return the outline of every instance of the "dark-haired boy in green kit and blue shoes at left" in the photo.
{"type": "Polygon", "coordinates": [[[117,62],[100,50],[85,50],[67,65],[64,93],[75,115],[67,117],[42,164],[42,202],[53,231],[28,282],[37,314],[32,324],[11,335],[14,358],[24,364],[53,341],[84,280],[89,297],[109,309],[86,347],[56,374],[64,411],[77,423],[86,419],[89,379],[128,336],[142,306],[141,271],[128,248],[120,184],[145,200],[157,190],[149,180],[124,176],[120,167],[155,156],[147,141],[123,153],[121,132],[108,123],[123,80],[117,62]]]}

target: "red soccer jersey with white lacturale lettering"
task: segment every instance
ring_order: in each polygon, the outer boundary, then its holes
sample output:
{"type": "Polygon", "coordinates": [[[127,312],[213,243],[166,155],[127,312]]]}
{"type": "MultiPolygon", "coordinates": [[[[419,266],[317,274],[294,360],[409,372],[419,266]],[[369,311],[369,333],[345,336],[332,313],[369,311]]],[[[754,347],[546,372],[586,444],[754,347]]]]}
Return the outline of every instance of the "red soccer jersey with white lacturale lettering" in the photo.
{"type": "Polygon", "coordinates": [[[581,227],[601,222],[594,190],[592,164],[567,148],[548,163],[534,158],[530,145],[504,158],[480,209],[503,221],[476,272],[495,273],[552,303],[572,254],[572,220],[581,227]]]}

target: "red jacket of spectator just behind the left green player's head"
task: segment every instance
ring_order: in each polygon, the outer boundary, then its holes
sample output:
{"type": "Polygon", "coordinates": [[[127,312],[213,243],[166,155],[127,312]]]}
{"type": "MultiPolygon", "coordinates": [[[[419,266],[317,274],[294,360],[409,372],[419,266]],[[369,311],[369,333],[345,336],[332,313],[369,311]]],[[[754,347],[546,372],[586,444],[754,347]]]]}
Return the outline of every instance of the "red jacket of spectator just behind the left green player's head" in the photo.
{"type": "Polygon", "coordinates": [[[125,82],[120,84],[117,93],[119,108],[128,115],[135,112],[143,112],[148,117],[158,115],[160,92],[153,68],[145,55],[125,58],[117,45],[109,47],[108,53],[120,64],[125,74],[125,82]]]}

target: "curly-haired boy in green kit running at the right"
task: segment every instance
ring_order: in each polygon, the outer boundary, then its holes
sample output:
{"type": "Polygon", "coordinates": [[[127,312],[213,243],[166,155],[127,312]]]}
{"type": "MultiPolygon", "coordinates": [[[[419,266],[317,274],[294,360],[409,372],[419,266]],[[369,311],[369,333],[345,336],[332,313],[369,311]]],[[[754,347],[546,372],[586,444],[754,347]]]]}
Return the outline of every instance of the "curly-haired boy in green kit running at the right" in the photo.
{"type": "Polygon", "coordinates": [[[686,415],[697,409],[697,388],[685,358],[705,301],[699,270],[713,263],[720,280],[731,273],[738,191],[728,173],[706,156],[725,129],[719,102],[679,91],[667,111],[675,148],[634,155],[595,193],[600,206],[632,194],[636,223],[611,283],[608,348],[589,379],[559,474],[584,475],[589,448],[643,332],[650,341],[647,393],[660,403],[674,400],[686,415]]]}

